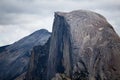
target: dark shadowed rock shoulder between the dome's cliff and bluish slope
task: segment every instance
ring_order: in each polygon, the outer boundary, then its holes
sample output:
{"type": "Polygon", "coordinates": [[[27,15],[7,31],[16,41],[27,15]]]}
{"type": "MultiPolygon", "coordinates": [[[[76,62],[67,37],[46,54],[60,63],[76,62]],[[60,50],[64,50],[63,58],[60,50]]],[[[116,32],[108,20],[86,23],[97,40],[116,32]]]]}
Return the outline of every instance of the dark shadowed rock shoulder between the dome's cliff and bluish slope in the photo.
{"type": "Polygon", "coordinates": [[[39,45],[33,48],[26,80],[47,80],[49,43],[50,40],[45,45],[39,45]]]}

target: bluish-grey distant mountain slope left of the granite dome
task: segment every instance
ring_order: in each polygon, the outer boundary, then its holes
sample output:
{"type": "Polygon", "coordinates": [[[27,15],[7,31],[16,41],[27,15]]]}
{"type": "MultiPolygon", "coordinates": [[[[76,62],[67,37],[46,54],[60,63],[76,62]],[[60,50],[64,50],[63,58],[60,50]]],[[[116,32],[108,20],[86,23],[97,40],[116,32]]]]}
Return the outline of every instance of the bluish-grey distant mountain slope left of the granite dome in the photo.
{"type": "Polygon", "coordinates": [[[0,80],[13,80],[27,71],[31,50],[34,46],[44,45],[51,33],[45,29],[0,48],[0,80]]]}

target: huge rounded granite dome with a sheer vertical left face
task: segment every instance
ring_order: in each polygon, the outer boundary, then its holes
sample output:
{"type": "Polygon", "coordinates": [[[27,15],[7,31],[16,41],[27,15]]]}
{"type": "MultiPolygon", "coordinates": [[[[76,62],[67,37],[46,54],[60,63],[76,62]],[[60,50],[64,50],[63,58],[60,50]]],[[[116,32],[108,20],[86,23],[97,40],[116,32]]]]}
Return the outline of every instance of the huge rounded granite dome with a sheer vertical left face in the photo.
{"type": "Polygon", "coordinates": [[[120,38],[106,19],[90,11],[55,13],[47,78],[119,80],[120,38]]]}

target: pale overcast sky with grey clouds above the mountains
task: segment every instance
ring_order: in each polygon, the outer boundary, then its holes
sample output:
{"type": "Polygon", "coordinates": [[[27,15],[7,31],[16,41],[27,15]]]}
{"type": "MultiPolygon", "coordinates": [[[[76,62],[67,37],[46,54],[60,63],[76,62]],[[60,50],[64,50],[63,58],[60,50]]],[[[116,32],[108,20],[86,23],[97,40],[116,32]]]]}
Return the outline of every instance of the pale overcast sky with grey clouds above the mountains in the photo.
{"type": "Polygon", "coordinates": [[[0,0],[0,46],[41,28],[52,31],[54,12],[78,9],[102,14],[120,35],[120,0],[0,0]]]}

